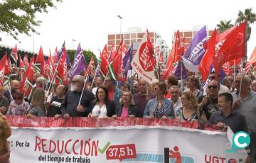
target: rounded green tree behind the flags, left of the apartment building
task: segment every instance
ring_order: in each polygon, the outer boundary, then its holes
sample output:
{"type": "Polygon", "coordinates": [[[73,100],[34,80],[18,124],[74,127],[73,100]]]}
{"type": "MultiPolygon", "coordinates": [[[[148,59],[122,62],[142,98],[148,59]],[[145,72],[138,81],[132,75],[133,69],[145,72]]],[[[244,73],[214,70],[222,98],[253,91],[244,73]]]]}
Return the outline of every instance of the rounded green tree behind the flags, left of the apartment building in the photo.
{"type": "MultiPolygon", "coordinates": [[[[70,62],[74,62],[75,59],[75,50],[67,50],[68,57],[70,59],[70,62]]],[[[95,65],[97,65],[97,57],[93,54],[90,50],[82,50],[82,54],[85,56],[86,65],[90,63],[90,59],[93,57],[95,60],[95,65]]]]}

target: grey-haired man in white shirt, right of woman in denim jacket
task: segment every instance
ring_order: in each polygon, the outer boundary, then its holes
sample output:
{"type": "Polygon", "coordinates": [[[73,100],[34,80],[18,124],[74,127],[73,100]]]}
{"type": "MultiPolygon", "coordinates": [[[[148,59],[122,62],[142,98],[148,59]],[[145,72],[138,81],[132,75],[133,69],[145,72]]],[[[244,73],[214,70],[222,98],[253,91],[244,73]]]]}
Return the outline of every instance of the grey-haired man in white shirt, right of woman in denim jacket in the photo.
{"type": "Polygon", "coordinates": [[[178,108],[182,107],[180,89],[178,88],[178,86],[173,85],[170,87],[169,91],[171,94],[170,100],[174,105],[174,114],[176,114],[178,108]]]}

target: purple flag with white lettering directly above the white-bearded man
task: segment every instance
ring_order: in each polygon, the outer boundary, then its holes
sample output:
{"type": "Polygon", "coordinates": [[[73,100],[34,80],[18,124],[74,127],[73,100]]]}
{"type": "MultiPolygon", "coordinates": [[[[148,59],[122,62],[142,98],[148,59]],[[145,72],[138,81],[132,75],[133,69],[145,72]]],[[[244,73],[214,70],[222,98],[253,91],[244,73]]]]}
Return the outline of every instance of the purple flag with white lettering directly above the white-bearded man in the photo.
{"type": "Polygon", "coordinates": [[[70,79],[73,79],[75,75],[80,74],[80,72],[82,72],[85,69],[85,63],[85,57],[82,54],[82,49],[79,43],[78,50],[75,52],[73,67],[70,69],[69,72],[70,79]]]}

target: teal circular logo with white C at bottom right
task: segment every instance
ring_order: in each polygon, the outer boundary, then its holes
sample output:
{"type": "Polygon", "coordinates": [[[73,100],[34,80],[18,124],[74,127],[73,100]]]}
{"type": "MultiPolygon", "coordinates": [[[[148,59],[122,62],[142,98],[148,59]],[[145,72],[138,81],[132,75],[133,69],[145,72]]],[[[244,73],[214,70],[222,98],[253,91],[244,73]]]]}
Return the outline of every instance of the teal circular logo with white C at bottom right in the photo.
{"type": "Polygon", "coordinates": [[[232,146],[228,144],[228,150],[226,152],[235,153],[237,152],[247,152],[246,147],[250,145],[250,135],[244,131],[239,131],[235,133],[232,137],[232,146]],[[231,148],[232,147],[232,148],[231,148]]]}

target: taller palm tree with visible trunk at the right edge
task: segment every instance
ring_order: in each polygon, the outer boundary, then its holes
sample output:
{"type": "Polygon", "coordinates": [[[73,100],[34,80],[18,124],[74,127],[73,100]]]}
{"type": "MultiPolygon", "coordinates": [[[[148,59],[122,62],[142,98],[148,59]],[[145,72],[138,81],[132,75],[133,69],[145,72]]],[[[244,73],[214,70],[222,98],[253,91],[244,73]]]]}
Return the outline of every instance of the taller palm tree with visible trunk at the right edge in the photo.
{"type": "Polygon", "coordinates": [[[250,35],[252,33],[252,29],[250,24],[256,21],[256,14],[252,13],[252,9],[245,9],[245,12],[239,11],[238,18],[235,20],[235,23],[243,23],[246,22],[245,29],[245,59],[247,60],[247,41],[250,40],[250,35]]]}

